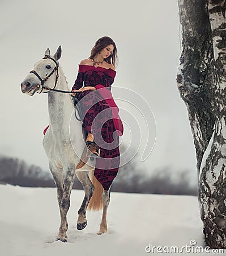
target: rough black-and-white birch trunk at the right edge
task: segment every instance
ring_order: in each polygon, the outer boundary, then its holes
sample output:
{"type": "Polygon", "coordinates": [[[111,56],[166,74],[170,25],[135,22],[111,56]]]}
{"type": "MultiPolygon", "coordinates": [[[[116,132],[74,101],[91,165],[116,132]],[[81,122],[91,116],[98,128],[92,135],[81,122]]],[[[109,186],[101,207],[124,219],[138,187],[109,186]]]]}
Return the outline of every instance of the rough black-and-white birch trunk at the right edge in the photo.
{"type": "Polygon", "coordinates": [[[178,0],[177,85],[193,133],[206,245],[226,247],[226,1],[178,0]]]}

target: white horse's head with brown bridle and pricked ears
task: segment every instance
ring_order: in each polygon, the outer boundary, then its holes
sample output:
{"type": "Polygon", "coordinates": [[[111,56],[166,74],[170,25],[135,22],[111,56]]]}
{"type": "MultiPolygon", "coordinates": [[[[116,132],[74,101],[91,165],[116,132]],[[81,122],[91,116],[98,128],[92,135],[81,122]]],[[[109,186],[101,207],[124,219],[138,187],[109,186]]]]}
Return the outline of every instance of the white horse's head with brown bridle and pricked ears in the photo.
{"type": "Polygon", "coordinates": [[[23,93],[33,96],[36,92],[42,92],[42,87],[53,89],[58,80],[58,60],[61,58],[61,46],[56,53],[50,56],[49,48],[45,51],[42,60],[35,64],[34,69],[25,77],[20,84],[23,93]],[[56,73],[56,76],[52,76],[56,73]],[[55,80],[55,81],[54,81],[55,80]],[[45,86],[44,86],[45,84],[45,86]]]}

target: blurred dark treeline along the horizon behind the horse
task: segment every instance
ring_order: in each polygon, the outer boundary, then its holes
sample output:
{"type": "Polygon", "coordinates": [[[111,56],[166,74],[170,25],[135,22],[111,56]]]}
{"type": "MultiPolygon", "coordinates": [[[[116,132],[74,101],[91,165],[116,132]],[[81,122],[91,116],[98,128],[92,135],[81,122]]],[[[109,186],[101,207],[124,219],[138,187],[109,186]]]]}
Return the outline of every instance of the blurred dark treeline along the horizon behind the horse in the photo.
{"type": "MultiPolygon", "coordinates": [[[[189,171],[178,174],[177,181],[172,178],[172,170],[156,170],[154,175],[144,175],[144,170],[131,160],[120,168],[112,185],[112,191],[127,193],[153,193],[170,195],[197,195],[197,187],[191,186],[189,171]]],[[[0,156],[0,183],[20,185],[23,187],[55,187],[50,171],[40,167],[28,166],[23,160],[0,156]]],[[[83,189],[75,177],[73,188],[83,189]]]]}

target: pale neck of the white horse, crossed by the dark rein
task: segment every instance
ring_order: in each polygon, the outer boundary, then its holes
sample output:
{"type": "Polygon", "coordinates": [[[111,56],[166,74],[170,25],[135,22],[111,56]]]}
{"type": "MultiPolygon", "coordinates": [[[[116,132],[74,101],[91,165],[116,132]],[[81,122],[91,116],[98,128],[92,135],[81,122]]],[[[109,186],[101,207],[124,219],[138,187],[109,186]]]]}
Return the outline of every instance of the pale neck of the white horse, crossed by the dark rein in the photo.
{"type": "MultiPolygon", "coordinates": [[[[56,89],[69,90],[65,75],[59,66],[59,79],[56,89]]],[[[74,111],[73,102],[69,93],[48,93],[49,124],[54,132],[69,133],[71,114],[74,111]]]]}

